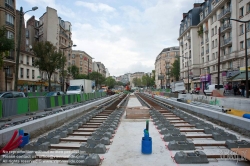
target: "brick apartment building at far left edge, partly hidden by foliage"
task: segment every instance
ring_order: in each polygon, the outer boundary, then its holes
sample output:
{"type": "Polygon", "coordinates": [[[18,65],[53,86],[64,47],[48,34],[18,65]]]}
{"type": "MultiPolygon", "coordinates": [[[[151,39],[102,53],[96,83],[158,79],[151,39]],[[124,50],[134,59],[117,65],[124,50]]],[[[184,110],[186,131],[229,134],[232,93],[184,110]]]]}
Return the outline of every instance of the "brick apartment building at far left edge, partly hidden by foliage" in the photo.
{"type": "MultiPolygon", "coordinates": [[[[15,40],[16,43],[16,1],[0,1],[0,27],[6,27],[7,37],[15,40]]],[[[7,76],[7,90],[14,89],[15,78],[15,55],[16,51],[10,50],[8,56],[3,59],[3,67],[0,68],[0,91],[5,91],[7,76]]]]}

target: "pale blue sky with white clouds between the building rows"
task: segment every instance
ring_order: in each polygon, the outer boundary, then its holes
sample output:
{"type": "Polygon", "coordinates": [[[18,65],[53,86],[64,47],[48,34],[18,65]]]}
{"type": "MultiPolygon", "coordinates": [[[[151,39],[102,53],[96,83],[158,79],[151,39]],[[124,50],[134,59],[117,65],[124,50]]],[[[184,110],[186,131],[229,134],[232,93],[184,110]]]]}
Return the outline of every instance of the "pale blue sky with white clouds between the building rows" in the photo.
{"type": "Polygon", "coordinates": [[[102,62],[111,75],[151,72],[163,48],[178,46],[182,13],[201,0],[16,0],[25,14],[39,17],[46,7],[72,24],[74,49],[102,62]]]}

